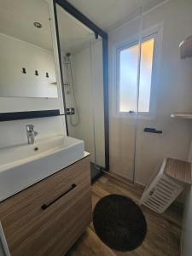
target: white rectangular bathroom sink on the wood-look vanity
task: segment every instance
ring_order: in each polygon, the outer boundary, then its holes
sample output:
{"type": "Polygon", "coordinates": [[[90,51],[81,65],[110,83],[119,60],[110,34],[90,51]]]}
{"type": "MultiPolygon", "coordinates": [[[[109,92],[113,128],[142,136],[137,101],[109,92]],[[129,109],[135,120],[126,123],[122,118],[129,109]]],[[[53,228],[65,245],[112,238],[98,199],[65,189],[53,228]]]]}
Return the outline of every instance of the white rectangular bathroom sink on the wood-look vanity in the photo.
{"type": "Polygon", "coordinates": [[[0,201],[84,157],[84,142],[62,135],[0,149],[0,201]]]}

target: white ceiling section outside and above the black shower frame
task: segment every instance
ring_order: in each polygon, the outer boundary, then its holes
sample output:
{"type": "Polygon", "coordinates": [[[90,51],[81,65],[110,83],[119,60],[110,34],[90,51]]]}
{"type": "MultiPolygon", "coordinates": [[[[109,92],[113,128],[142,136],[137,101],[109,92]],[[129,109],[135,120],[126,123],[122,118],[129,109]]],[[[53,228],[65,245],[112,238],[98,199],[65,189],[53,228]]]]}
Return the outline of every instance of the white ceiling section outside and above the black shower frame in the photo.
{"type": "Polygon", "coordinates": [[[104,31],[109,32],[165,0],[68,0],[104,31]]]}

